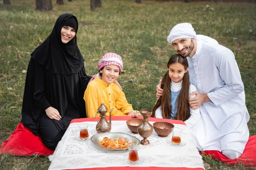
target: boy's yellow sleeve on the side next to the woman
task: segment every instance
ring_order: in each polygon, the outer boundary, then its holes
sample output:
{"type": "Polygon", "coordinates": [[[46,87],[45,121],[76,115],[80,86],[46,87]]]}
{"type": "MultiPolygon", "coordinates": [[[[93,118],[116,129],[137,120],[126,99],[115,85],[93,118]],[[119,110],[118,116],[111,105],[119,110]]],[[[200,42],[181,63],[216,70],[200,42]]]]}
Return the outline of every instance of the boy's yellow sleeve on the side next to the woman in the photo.
{"type": "Polygon", "coordinates": [[[87,86],[84,92],[84,101],[86,108],[87,117],[95,117],[97,113],[98,105],[98,92],[97,89],[93,86],[87,86]]]}

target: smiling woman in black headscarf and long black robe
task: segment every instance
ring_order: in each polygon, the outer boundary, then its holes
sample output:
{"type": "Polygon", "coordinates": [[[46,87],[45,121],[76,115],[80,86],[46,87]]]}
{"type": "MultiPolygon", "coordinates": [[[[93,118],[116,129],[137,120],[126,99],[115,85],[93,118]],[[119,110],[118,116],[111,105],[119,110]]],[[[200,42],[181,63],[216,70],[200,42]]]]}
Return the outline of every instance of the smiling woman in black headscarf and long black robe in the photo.
{"type": "Polygon", "coordinates": [[[21,121],[51,150],[72,119],[86,116],[83,95],[91,77],[84,70],[77,30],[76,17],[62,14],[29,61],[21,121]]]}

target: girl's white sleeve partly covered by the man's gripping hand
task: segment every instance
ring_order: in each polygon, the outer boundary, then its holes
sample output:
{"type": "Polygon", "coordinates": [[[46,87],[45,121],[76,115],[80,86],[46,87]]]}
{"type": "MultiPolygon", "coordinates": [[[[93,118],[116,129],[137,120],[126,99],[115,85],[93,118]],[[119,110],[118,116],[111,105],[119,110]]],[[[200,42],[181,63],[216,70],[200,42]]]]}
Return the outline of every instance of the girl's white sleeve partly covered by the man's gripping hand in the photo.
{"type": "MultiPolygon", "coordinates": [[[[190,95],[190,93],[196,91],[195,85],[189,86],[189,98],[195,97],[195,95],[190,95]]],[[[198,120],[200,119],[200,108],[192,109],[189,107],[190,110],[190,117],[189,119],[185,120],[185,123],[188,128],[191,128],[193,125],[195,125],[198,120]]]]}

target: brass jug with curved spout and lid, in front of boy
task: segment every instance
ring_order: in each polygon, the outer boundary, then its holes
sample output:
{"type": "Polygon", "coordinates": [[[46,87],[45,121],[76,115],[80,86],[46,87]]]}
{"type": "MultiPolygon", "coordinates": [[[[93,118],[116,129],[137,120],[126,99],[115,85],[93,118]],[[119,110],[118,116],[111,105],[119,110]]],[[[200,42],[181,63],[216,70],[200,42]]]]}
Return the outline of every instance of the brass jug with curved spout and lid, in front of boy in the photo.
{"type": "Polygon", "coordinates": [[[100,114],[100,120],[96,125],[96,131],[98,133],[104,133],[104,132],[110,132],[111,130],[111,112],[113,111],[114,108],[111,109],[109,113],[109,122],[106,120],[105,116],[106,113],[108,112],[108,108],[102,103],[98,110],[97,113],[95,114],[95,120],[98,122],[96,119],[97,114],[100,114]]]}

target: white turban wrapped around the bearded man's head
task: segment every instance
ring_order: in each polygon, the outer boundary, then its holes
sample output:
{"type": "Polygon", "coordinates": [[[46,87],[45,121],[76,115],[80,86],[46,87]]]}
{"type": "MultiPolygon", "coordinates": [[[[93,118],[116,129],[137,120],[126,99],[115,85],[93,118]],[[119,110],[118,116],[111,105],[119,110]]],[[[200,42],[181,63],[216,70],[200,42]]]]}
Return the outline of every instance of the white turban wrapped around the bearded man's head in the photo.
{"type": "Polygon", "coordinates": [[[180,23],[174,26],[167,37],[167,41],[172,44],[179,38],[196,38],[194,28],[190,23],[180,23]]]}

